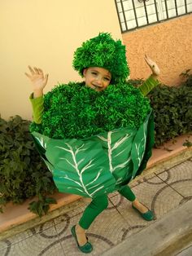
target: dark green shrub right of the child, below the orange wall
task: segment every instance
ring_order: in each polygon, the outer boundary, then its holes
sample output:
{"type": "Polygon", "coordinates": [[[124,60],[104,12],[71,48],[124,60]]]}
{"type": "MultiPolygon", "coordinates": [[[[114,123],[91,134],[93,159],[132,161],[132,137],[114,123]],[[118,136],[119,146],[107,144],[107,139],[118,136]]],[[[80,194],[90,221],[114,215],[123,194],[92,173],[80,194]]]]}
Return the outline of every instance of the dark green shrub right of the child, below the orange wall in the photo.
{"type": "Polygon", "coordinates": [[[155,146],[192,130],[192,75],[180,86],[156,86],[149,95],[155,113],[155,146]]]}

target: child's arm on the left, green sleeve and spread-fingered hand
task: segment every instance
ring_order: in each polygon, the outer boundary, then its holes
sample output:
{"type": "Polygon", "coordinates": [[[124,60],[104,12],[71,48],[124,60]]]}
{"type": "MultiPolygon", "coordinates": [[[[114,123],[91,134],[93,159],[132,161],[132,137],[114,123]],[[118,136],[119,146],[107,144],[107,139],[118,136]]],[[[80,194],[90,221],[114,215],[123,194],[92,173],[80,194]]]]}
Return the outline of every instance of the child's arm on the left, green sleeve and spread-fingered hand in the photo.
{"type": "Polygon", "coordinates": [[[30,74],[25,75],[30,79],[33,85],[33,94],[30,95],[30,101],[33,107],[33,121],[37,124],[41,123],[41,116],[44,111],[43,107],[43,89],[48,80],[48,74],[44,76],[41,68],[31,68],[28,66],[30,74]]]}

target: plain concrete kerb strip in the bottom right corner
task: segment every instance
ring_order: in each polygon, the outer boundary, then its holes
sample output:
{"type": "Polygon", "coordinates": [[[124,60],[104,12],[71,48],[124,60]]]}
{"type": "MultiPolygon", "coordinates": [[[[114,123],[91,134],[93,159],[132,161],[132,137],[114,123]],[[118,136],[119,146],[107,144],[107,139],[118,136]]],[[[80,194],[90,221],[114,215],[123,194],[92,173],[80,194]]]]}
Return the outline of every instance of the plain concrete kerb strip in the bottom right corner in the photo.
{"type": "Polygon", "coordinates": [[[192,255],[192,201],[185,202],[103,256],[192,255]],[[140,242],[138,242],[140,241],[140,242]]]}

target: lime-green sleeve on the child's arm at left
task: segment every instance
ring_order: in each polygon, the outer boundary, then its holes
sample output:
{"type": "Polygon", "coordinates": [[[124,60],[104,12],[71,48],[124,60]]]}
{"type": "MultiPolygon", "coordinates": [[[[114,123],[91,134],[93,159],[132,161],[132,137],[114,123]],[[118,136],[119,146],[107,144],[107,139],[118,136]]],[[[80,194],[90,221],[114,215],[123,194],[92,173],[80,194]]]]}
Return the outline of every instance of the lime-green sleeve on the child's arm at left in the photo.
{"type": "Polygon", "coordinates": [[[33,121],[37,124],[41,124],[41,117],[44,111],[43,96],[34,99],[33,94],[31,94],[29,99],[31,101],[32,108],[33,108],[33,121]]]}

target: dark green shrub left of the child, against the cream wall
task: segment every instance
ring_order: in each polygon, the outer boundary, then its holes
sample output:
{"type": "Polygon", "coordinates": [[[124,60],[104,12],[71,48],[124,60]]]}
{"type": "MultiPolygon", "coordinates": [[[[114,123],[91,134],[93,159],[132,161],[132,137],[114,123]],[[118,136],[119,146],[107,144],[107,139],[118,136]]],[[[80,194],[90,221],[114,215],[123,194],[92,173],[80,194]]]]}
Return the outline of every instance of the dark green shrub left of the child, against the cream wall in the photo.
{"type": "Polygon", "coordinates": [[[29,124],[20,116],[9,121],[0,117],[0,210],[8,201],[20,204],[37,196],[38,201],[29,205],[29,209],[41,216],[49,209],[49,201],[55,202],[46,195],[56,188],[34,148],[29,124]]]}

